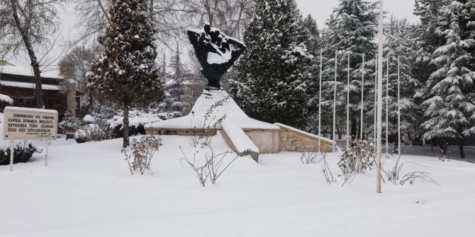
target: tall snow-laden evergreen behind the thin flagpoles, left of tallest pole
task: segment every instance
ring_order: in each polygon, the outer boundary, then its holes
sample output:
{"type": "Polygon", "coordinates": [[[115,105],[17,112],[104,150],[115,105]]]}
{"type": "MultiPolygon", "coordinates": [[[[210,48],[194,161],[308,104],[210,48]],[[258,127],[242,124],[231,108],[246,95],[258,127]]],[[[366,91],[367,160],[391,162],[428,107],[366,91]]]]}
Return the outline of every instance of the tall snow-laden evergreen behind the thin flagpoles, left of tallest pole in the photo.
{"type": "MultiPolygon", "coordinates": [[[[374,39],[377,34],[377,4],[363,0],[340,0],[338,7],[333,10],[330,19],[326,22],[324,57],[326,79],[322,87],[326,97],[322,101],[328,112],[333,111],[335,52],[337,55],[337,114],[346,115],[347,90],[350,90],[350,122],[351,134],[357,135],[360,120],[360,106],[372,105],[374,96],[369,95],[369,88],[374,88],[374,83],[368,83],[371,68],[369,59],[374,59],[376,44],[374,39]],[[362,55],[366,59],[364,101],[368,104],[361,105],[362,88],[362,55]],[[347,87],[348,55],[350,55],[350,88],[347,87]]],[[[374,68],[374,67],[373,67],[374,68]]],[[[373,94],[374,95],[374,94],[373,94]]]]}

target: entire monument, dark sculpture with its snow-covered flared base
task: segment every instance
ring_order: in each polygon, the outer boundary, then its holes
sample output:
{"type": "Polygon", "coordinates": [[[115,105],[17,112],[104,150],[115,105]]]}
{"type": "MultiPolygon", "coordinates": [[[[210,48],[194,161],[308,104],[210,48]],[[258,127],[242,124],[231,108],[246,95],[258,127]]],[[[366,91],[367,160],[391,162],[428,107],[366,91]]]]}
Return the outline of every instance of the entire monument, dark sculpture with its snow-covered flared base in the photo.
{"type": "Polygon", "coordinates": [[[317,146],[320,151],[332,151],[335,141],[286,125],[270,124],[248,117],[221,88],[221,76],[246,49],[242,42],[208,24],[199,30],[188,30],[187,33],[201,64],[201,73],[208,84],[189,115],[145,125],[147,134],[213,136],[220,131],[233,151],[243,156],[250,155],[255,161],[259,154],[318,151],[317,146]],[[218,126],[210,129],[209,125],[217,122],[218,126]]]}

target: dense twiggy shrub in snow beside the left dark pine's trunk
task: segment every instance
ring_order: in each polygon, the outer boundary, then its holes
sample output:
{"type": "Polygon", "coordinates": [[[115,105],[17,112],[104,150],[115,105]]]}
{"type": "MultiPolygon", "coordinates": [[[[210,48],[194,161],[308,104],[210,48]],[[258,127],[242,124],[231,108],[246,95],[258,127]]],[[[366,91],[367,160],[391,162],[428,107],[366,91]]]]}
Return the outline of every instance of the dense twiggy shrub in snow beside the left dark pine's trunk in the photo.
{"type": "Polygon", "coordinates": [[[160,137],[148,135],[133,139],[132,144],[128,148],[122,149],[125,155],[125,161],[128,163],[130,174],[140,171],[141,174],[145,170],[150,170],[150,163],[156,151],[162,146],[162,139],[160,137]]]}

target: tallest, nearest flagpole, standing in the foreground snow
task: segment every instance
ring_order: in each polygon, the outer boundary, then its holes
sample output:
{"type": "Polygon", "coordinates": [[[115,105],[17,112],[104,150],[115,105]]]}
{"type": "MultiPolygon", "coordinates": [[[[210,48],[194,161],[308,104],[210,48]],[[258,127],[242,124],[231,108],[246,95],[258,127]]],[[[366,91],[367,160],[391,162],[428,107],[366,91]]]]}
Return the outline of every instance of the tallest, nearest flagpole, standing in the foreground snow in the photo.
{"type": "MultiPolygon", "coordinates": [[[[384,21],[384,1],[379,0],[379,33],[378,33],[378,101],[382,101],[383,92],[383,21],[384,21]]],[[[378,132],[377,132],[377,146],[376,146],[376,192],[381,193],[381,104],[378,104],[378,132]]]]}

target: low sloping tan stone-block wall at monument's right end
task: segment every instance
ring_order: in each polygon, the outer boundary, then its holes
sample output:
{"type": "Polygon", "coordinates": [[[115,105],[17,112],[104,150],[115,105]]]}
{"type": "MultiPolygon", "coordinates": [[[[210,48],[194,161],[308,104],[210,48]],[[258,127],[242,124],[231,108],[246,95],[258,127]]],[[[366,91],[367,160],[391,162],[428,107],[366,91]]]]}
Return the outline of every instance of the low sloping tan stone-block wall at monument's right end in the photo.
{"type": "MultiPolygon", "coordinates": [[[[318,137],[298,129],[281,125],[278,126],[281,128],[279,132],[279,151],[318,151],[318,137]]],[[[320,151],[332,152],[332,145],[332,142],[326,139],[320,139],[320,151]]]]}

